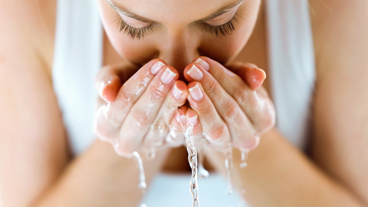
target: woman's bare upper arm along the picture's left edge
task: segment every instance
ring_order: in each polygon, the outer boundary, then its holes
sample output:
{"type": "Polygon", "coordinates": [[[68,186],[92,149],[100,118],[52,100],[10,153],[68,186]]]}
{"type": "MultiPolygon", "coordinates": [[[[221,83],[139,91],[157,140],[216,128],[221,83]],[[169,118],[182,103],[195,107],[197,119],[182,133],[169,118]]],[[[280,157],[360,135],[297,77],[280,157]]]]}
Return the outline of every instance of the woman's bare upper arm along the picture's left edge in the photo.
{"type": "Polygon", "coordinates": [[[31,206],[67,162],[52,40],[35,2],[0,0],[0,206],[31,206]]]}

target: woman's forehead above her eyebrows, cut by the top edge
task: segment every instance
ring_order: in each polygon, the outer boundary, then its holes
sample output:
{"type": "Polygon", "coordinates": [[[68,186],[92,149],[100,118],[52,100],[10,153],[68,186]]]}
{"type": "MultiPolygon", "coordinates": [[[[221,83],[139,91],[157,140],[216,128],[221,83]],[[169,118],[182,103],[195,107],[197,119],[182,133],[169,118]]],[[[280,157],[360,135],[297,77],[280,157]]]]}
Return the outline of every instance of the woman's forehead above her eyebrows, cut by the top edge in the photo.
{"type": "Polygon", "coordinates": [[[163,24],[190,23],[239,0],[113,0],[132,13],[163,24]]]}

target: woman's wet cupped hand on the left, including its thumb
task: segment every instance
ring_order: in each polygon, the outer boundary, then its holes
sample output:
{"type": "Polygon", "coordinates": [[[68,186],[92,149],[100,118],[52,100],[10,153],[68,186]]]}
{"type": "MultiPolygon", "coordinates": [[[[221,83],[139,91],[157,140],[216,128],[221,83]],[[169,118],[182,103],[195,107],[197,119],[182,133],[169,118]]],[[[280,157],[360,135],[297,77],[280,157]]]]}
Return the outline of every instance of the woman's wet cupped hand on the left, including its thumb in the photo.
{"type": "Polygon", "coordinates": [[[126,71],[105,66],[96,77],[98,94],[105,100],[96,112],[96,135],[125,157],[185,143],[177,108],[186,102],[188,91],[178,71],[161,59],[151,60],[127,81],[126,71]]]}

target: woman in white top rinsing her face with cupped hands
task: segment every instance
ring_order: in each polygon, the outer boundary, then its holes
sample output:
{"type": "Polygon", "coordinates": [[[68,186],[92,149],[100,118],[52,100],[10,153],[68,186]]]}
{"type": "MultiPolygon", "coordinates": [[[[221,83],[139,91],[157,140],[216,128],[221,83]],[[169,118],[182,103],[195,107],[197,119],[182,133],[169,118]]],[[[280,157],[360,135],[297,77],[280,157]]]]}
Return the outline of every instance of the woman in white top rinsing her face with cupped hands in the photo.
{"type": "MultiPolygon", "coordinates": [[[[121,155],[168,145],[162,138],[170,131],[168,127],[160,130],[160,123],[173,122],[170,125],[178,128],[175,109],[188,100],[190,107],[183,109],[195,123],[198,140],[220,149],[224,143],[241,149],[256,147],[249,167],[234,180],[234,184],[245,183],[247,192],[242,196],[251,206],[367,206],[368,3],[350,1],[346,6],[311,0],[311,28],[303,13],[308,11],[306,2],[266,3],[98,0],[104,26],[100,35],[98,12],[89,1],[1,1],[3,206],[139,203],[141,193],[132,187],[138,183],[135,161],[117,156],[109,144],[91,138],[95,109],[91,90],[102,65],[106,67],[97,78],[99,95],[111,104],[110,110],[105,107],[106,113],[97,113],[95,130],[104,140],[118,138],[115,150],[121,155]],[[283,26],[288,24],[296,24],[294,33],[283,26]],[[293,35],[304,38],[293,39],[293,35]],[[300,55],[299,50],[307,53],[300,55]],[[157,62],[160,67],[151,70],[157,62]],[[274,83],[266,79],[258,88],[264,74],[245,62],[273,74],[274,83]],[[281,73],[276,69],[283,64],[287,70],[281,73]],[[313,70],[308,76],[301,70],[314,66],[315,80],[313,70]],[[191,69],[197,76],[188,74],[191,69]],[[258,77],[254,82],[252,75],[258,77]],[[315,87],[308,87],[313,81],[315,87]],[[156,93],[153,103],[150,90],[134,91],[137,85],[150,89],[159,84],[161,93],[156,93]],[[236,94],[247,96],[242,99],[236,94]],[[268,130],[273,126],[273,108],[267,94],[278,112],[277,129],[268,130]],[[145,119],[139,119],[140,114],[145,119]],[[234,117],[226,118],[229,114],[234,117]],[[312,125],[304,128],[308,116],[312,125]],[[307,132],[308,148],[300,138],[307,132]],[[258,134],[262,135],[259,145],[258,134]]],[[[100,99],[99,105],[105,101],[100,99]]],[[[179,132],[174,130],[178,136],[179,132]]],[[[183,137],[172,138],[177,138],[176,144],[183,141],[183,137]]],[[[186,157],[164,148],[153,161],[144,161],[148,180],[167,157],[166,169],[175,168],[173,163],[182,166],[185,158],[180,155],[186,157]]],[[[207,157],[215,169],[223,170],[222,153],[209,151],[207,157]]],[[[234,168],[240,162],[240,153],[234,150],[234,168]]]]}

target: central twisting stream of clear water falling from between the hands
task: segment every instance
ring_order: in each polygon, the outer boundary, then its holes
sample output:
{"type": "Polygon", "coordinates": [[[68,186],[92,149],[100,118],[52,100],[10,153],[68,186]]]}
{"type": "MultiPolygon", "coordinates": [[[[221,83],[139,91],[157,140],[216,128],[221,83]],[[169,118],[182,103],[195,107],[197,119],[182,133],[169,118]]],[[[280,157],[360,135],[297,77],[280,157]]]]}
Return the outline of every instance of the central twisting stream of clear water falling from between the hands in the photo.
{"type": "MultiPolygon", "coordinates": [[[[181,108],[178,108],[179,115],[181,114],[181,108]]],[[[194,147],[193,143],[193,123],[188,122],[187,118],[184,114],[180,115],[180,124],[183,129],[185,136],[185,143],[187,144],[188,151],[188,162],[190,167],[192,168],[192,177],[190,180],[190,193],[193,197],[193,207],[199,207],[198,200],[198,181],[197,181],[197,150],[194,147]]]]}

